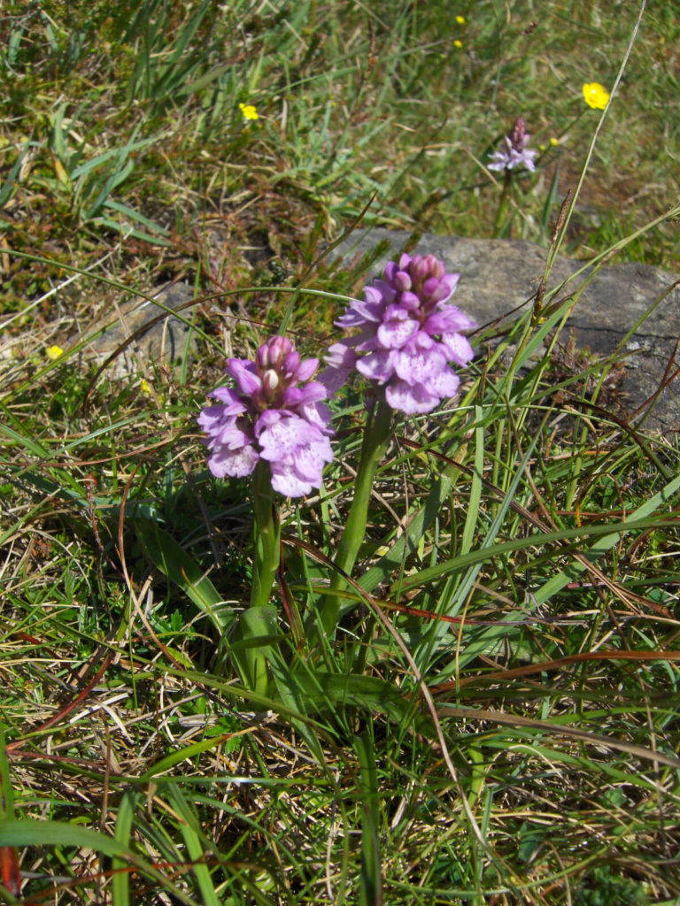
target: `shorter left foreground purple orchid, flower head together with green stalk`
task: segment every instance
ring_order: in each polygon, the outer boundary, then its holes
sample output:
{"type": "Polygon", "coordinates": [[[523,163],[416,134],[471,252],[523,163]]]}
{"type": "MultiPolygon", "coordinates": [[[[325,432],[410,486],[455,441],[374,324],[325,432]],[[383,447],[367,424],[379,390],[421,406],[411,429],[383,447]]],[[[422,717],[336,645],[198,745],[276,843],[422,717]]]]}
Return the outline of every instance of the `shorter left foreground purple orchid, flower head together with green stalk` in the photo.
{"type": "Polygon", "coordinates": [[[280,557],[276,494],[303,496],[321,487],[333,458],[328,390],[312,377],[317,359],[301,360],[292,342],[272,337],[255,361],[229,359],[236,387],[210,394],[218,403],[202,410],[208,466],[216,477],[253,477],[253,581],[250,608],[240,621],[235,655],[250,689],[266,694],[267,656],[276,634],[271,605],[280,557]]]}

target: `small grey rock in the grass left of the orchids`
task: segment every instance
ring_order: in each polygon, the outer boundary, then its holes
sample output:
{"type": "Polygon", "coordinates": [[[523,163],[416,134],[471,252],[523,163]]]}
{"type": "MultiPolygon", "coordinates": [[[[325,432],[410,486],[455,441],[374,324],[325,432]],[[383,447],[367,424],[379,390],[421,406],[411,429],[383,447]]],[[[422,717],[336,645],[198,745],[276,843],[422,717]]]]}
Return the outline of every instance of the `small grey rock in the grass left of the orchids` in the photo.
{"type": "Polygon", "coordinates": [[[112,323],[109,316],[105,322],[93,324],[88,334],[97,334],[107,324],[106,330],[87,344],[84,352],[93,361],[103,364],[113,356],[108,367],[114,377],[123,377],[140,371],[140,358],[145,367],[176,367],[186,356],[189,361],[199,352],[199,342],[190,329],[190,307],[182,306],[191,302],[193,291],[188,284],[171,284],[152,290],[155,301],[131,299],[121,304],[120,316],[112,323]],[[164,306],[164,307],[163,307],[164,306]],[[180,312],[186,321],[168,313],[165,309],[180,312]],[[114,353],[117,353],[114,355],[114,353]]]}

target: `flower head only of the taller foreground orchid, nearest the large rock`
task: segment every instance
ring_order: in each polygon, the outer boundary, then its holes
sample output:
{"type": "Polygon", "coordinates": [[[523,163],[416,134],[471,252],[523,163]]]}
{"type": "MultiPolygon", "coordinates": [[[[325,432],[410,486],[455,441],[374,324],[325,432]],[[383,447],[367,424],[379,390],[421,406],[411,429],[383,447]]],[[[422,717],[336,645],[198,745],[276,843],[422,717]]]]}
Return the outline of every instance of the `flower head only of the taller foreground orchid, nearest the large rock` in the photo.
{"type": "Polygon", "coordinates": [[[460,379],[450,362],[470,363],[472,347],[461,331],[477,326],[447,304],[459,276],[434,255],[389,262],[383,279],[364,287],[364,301],[350,302],[335,322],[358,333],[330,347],[319,381],[335,391],[356,369],[383,389],[392,409],[409,415],[455,396],[460,379]]]}

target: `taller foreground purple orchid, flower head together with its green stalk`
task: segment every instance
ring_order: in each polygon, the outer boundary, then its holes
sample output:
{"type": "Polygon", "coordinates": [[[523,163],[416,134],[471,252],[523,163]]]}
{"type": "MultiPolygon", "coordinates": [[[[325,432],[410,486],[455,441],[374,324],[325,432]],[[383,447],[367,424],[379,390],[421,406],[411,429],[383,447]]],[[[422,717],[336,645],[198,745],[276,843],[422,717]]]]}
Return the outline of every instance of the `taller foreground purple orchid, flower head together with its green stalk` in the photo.
{"type": "Polygon", "coordinates": [[[470,342],[461,332],[477,325],[449,303],[458,280],[434,255],[402,255],[398,264],[385,266],[381,280],[364,287],[364,301],[353,300],[336,322],[357,333],[330,348],[319,381],[335,390],[355,369],[370,382],[374,405],[354,500],[335,555],[342,573],[334,574],[322,612],[329,637],[342,607],[337,592],[345,588],[345,574],[352,573],[364,541],[374,477],[389,443],[394,412],[432,412],[458,392],[460,378],[451,363],[465,367],[472,360],[470,342]]]}

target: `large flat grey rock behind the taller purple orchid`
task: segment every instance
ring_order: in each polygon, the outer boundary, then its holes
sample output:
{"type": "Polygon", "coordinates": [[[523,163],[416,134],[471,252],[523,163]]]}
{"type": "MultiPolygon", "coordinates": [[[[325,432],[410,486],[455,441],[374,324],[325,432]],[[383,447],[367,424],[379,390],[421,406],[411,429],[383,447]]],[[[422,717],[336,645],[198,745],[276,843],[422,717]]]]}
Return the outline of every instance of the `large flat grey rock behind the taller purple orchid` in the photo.
{"type": "MultiPolygon", "coordinates": [[[[395,230],[355,230],[330,257],[351,260],[387,240],[392,251],[374,265],[377,276],[410,238],[409,233],[395,230]]],[[[453,301],[481,325],[517,318],[531,307],[548,256],[548,249],[523,240],[433,234],[424,234],[413,251],[437,255],[448,271],[461,275],[453,301]]],[[[554,293],[553,301],[557,302],[577,293],[586,283],[566,323],[564,339],[573,332],[582,348],[603,356],[614,352],[623,356],[621,397],[635,424],[645,416],[647,400],[680,368],[680,355],[674,360],[680,337],[680,281],[651,265],[603,265],[594,275],[593,268],[586,267],[577,275],[583,268],[583,262],[559,255],[550,270],[546,300],[554,293]],[[636,326],[664,294],[654,312],[636,326]]],[[[680,375],[658,394],[644,418],[644,428],[664,433],[680,431],[680,375]]]]}

